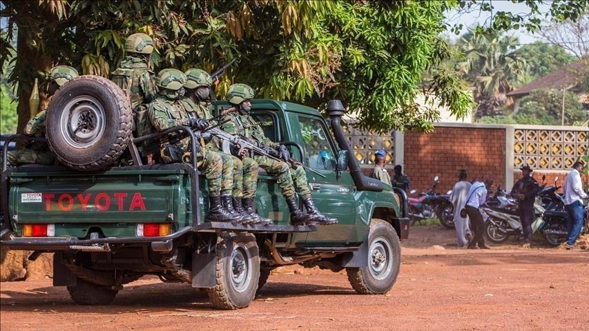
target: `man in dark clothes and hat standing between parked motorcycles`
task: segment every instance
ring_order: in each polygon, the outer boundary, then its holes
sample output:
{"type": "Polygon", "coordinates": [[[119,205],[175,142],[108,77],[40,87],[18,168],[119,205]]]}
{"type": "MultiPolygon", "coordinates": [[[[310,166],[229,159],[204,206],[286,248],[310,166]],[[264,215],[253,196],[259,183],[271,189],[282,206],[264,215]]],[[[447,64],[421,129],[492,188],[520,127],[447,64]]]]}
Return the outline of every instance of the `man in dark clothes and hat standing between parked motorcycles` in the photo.
{"type": "Polygon", "coordinates": [[[534,200],[536,194],[540,192],[541,186],[532,177],[533,170],[529,165],[524,165],[519,170],[521,170],[523,177],[513,185],[512,197],[519,202],[517,210],[523,228],[523,244],[521,247],[530,248],[530,243],[532,243],[532,222],[534,221],[534,200]]]}

